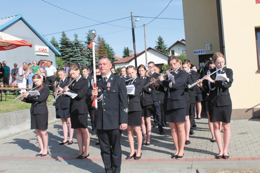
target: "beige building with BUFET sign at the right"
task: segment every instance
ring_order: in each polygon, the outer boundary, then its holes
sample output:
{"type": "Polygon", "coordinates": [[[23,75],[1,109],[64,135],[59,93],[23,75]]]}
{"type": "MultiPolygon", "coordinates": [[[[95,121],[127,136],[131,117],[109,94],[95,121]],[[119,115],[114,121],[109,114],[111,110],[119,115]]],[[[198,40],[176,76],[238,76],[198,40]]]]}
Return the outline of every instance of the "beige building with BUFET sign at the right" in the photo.
{"type": "Polygon", "coordinates": [[[258,0],[183,0],[187,58],[195,65],[222,52],[233,70],[231,119],[260,118],[258,0]]]}

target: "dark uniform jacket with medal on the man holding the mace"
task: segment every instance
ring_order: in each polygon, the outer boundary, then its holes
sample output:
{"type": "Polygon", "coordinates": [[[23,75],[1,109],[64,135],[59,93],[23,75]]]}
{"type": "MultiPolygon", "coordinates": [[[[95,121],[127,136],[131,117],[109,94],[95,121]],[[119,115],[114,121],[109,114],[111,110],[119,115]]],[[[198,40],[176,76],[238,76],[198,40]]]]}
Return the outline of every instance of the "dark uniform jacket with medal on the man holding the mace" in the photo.
{"type": "MultiPolygon", "coordinates": [[[[109,130],[118,129],[120,124],[127,124],[127,89],[125,80],[119,76],[111,74],[105,85],[101,75],[97,76],[98,96],[103,94],[103,99],[98,102],[98,115],[95,116],[95,124],[97,129],[109,130]],[[108,89],[107,85],[110,83],[108,89]]],[[[92,104],[91,93],[92,85],[90,85],[87,103],[92,104]]]]}

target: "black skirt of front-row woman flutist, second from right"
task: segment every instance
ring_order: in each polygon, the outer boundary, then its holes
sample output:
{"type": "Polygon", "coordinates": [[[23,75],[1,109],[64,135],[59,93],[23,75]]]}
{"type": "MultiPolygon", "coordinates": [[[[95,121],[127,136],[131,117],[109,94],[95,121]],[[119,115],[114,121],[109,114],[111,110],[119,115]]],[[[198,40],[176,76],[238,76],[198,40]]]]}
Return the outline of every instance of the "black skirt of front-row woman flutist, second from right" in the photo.
{"type": "Polygon", "coordinates": [[[166,122],[185,122],[186,108],[165,110],[166,122]]]}

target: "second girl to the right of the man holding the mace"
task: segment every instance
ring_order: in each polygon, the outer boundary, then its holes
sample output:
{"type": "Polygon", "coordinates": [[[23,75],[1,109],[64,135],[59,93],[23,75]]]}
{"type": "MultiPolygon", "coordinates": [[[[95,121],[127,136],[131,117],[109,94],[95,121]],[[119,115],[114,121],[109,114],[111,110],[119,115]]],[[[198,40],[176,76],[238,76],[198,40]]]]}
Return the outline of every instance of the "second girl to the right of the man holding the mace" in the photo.
{"type": "MultiPolygon", "coordinates": [[[[151,77],[145,76],[146,69],[144,65],[139,65],[138,67],[138,75],[144,80],[144,86],[147,83],[150,83],[151,77]]],[[[151,114],[153,111],[153,99],[151,93],[153,92],[153,85],[149,85],[148,87],[143,87],[140,95],[140,103],[142,108],[142,131],[144,142],[142,145],[150,145],[151,144],[151,114]]]]}

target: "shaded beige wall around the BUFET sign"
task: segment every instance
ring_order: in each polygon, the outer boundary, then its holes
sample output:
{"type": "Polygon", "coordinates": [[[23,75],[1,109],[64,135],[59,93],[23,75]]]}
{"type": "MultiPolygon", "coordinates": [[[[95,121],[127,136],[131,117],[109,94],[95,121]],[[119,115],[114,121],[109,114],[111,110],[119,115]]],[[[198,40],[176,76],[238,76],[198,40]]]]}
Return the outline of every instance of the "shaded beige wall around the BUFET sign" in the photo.
{"type": "Polygon", "coordinates": [[[216,0],[183,0],[182,4],[187,58],[198,65],[199,56],[193,54],[194,50],[206,49],[206,44],[213,47],[206,54],[220,50],[216,0]]]}

